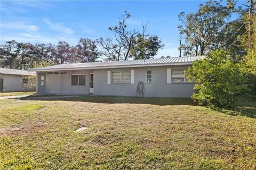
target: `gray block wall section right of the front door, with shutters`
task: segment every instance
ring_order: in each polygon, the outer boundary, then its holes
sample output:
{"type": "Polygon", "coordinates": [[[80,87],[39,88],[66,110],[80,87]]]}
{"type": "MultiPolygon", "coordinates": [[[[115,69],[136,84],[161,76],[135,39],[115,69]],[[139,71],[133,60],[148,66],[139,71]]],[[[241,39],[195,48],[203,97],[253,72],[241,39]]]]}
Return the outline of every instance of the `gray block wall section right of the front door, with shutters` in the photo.
{"type": "Polygon", "coordinates": [[[193,83],[167,84],[167,68],[187,69],[187,66],[134,67],[94,70],[94,95],[136,96],[139,81],[145,83],[145,97],[184,97],[193,95],[193,83]],[[134,84],[107,84],[107,71],[134,70],[134,84]],[[152,82],[146,83],[146,71],[152,71],[152,82]]]}

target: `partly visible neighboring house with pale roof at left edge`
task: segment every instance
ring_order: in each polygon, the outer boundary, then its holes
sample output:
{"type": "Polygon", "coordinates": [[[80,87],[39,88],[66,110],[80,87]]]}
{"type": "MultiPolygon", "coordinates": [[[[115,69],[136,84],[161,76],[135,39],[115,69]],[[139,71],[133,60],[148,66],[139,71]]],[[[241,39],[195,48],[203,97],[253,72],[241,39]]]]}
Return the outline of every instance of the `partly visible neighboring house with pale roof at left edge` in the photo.
{"type": "Polygon", "coordinates": [[[24,75],[36,75],[36,73],[26,70],[0,68],[1,81],[3,80],[3,91],[26,91],[27,89],[23,84],[27,83],[28,79],[24,78],[24,75]]]}

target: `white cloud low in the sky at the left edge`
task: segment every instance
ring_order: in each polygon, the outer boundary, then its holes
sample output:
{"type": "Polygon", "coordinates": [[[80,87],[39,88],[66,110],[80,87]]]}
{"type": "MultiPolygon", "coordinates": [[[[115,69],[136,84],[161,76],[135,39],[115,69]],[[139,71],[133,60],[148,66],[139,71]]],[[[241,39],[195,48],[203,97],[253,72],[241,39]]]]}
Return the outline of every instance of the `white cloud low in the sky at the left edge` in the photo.
{"type": "Polygon", "coordinates": [[[40,28],[36,25],[27,24],[25,22],[8,22],[2,23],[1,27],[7,29],[15,29],[15,30],[29,30],[29,31],[37,31],[40,28]]]}

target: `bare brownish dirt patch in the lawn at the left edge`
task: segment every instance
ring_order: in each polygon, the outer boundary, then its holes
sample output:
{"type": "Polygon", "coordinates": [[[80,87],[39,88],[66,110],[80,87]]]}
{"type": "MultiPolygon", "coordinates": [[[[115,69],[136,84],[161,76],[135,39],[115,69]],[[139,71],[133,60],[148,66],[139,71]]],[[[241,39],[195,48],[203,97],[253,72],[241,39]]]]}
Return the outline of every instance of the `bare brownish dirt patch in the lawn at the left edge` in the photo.
{"type": "Polygon", "coordinates": [[[1,136],[20,136],[25,135],[27,133],[38,132],[42,130],[44,124],[30,124],[26,127],[6,127],[0,129],[0,137],[1,136]]]}

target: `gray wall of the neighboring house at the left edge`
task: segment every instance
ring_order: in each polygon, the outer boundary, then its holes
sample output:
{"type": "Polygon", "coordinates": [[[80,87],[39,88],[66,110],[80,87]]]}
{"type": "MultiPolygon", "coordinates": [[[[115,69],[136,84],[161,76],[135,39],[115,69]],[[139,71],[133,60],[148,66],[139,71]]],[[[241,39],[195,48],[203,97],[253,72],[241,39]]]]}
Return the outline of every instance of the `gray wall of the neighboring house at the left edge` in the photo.
{"type": "Polygon", "coordinates": [[[25,91],[22,87],[22,75],[1,74],[4,78],[3,91],[25,91]]]}

